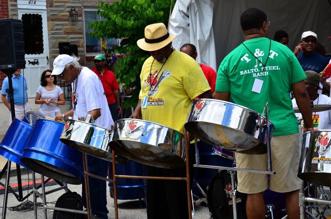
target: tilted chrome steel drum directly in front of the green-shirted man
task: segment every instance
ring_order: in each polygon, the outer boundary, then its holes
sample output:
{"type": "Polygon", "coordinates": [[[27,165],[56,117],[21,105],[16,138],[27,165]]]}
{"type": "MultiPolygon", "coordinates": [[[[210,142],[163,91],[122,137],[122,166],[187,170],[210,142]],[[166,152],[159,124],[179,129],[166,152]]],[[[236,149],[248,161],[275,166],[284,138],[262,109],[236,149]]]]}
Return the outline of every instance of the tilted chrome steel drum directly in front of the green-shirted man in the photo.
{"type": "MultiPolygon", "coordinates": [[[[229,151],[267,153],[265,117],[234,103],[213,99],[194,101],[185,128],[195,137],[229,151]]],[[[270,122],[268,140],[273,129],[270,122]]]]}

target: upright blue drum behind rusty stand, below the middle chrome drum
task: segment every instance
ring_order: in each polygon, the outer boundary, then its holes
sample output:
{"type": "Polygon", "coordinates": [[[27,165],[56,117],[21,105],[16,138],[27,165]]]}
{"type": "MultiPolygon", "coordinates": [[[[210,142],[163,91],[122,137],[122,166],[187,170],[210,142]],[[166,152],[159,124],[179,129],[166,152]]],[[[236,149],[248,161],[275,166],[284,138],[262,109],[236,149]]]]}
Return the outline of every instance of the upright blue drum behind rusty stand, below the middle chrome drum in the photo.
{"type": "MultiPolygon", "coordinates": [[[[146,165],[128,160],[128,164],[116,164],[117,175],[134,175],[143,176],[146,171],[146,165]]],[[[113,179],[113,164],[110,162],[108,165],[108,176],[113,179]]],[[[117,199],[120,200],[141,200],[144,198],[144,180],[143,179],[128,179],[116,178],[117,199]]],[[[114,185],[109,183],[110,197],[114,198],[114,185]]]]}

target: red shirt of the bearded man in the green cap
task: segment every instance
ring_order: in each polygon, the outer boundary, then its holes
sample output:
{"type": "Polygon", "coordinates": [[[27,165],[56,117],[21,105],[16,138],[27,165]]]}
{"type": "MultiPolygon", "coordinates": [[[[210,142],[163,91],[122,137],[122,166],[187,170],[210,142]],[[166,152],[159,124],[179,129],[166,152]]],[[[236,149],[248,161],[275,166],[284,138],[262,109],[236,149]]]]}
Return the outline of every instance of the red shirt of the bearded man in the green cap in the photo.
{"type": "Polygon", "coordinates": [[[91,70],[100,78],[102,86],[104,87],[108,104],[115,103],[116,99],[113,91],[118,90],[119,87],[114,73],[109,71],[106,66],[104,73],[100,73],[100,71],[96,68],[91,68],[91,70]]]}

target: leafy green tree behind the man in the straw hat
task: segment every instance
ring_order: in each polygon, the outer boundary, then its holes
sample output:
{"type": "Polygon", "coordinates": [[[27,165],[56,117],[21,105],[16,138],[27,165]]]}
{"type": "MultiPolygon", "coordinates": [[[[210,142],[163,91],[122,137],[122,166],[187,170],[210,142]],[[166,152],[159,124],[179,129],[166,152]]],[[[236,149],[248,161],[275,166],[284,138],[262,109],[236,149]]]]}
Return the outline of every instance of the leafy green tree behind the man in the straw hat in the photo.
{"type": "MultiPolygon", "coordinates": [[[[172,7],[174,3],[175,1],[172,2],[172,7]]],[[[135,107],[139,98],[141,67],[150,56],[149,52],[137,46],[137,40],[144,38],[145,27],[149,24],[168,25],[171,0],[119,0],[112,5],[99,2],[98,6],[101,10],[97,13],[104,20],[88,25],[93,29],[89,36],[122,39],[120,46],[105,50],[105,53],[114,51],[117,54],[125,54],[115,65],[115,76],[120,83],[125,84],[124,89],[137,88],[132,91],[132,97],[125,101],[124,105],[125,108],[135,107]]]]}

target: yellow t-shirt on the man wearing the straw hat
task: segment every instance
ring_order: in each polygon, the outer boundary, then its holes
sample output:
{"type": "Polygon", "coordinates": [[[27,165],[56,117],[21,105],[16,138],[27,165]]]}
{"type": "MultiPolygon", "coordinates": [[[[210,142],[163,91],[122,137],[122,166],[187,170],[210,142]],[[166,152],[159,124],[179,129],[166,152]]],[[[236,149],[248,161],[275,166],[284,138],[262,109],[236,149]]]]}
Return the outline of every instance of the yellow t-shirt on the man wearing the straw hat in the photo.
{"type": "Polygon", "coordinates": [[[211,88],[189,55],[175,50],[166,62],[153,60],[151,56],[145,61],[140,74],[142,119],[182,132],[192,100],[211,88]]]}

